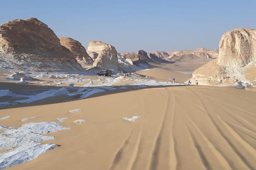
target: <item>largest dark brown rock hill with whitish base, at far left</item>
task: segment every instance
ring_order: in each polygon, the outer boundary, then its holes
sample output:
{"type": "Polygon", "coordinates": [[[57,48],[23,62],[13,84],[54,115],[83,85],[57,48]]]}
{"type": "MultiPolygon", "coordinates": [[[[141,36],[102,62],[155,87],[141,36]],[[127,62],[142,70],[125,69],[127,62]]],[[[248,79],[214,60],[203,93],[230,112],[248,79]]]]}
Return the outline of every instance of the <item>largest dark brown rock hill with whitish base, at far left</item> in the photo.
{"type": "Polygon", "coordinates": [[[23,70],[82,69],[52,29],[37,18],[15,19],[0,26],[0,56],[23,70]]]}

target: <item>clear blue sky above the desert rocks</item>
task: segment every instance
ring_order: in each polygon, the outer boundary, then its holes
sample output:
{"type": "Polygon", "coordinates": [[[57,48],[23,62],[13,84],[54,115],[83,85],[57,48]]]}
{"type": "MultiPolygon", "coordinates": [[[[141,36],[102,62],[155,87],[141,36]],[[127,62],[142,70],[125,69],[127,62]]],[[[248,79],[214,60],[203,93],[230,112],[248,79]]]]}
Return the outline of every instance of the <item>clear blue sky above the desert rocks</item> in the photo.
{"type": "Polygon", "coordinates": [[[118,52],[218,49],[226,31],[256,28],[256,0],[10,0],[0,23],[36,17],[57,36],[91,40],[118,52]]]}

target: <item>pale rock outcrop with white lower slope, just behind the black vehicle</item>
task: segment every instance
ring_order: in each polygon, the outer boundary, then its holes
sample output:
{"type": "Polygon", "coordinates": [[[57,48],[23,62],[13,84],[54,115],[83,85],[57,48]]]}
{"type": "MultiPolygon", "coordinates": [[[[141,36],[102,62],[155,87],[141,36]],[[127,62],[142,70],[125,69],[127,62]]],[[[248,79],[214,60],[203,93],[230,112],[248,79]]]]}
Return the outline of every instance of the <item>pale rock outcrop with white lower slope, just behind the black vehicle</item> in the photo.
{"type": "Polygon", "coordinates": [[[92,64],[95,68],[110,69],[113,71],[134,72],[135,66],[132,60],[118,54],[116,48],[101,41],[91,41],[88,44],[89,54],[97,58],[92,64]]]}

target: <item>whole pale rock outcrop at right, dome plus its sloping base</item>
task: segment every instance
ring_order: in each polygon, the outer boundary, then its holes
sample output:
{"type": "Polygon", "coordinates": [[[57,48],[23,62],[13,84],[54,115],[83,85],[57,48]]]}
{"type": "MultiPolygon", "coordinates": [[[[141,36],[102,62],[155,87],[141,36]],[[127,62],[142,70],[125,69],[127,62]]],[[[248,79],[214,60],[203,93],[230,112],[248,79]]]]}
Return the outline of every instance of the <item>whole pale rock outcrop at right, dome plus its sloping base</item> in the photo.
{"type": "Polygon", "coordinates": [[[234,85],[245,81],[248,64],[256,61],[256,30],[239,28],[226,32],[219,43],[217,59],[199,67],[192,81],[201,85],[234,85]]]}

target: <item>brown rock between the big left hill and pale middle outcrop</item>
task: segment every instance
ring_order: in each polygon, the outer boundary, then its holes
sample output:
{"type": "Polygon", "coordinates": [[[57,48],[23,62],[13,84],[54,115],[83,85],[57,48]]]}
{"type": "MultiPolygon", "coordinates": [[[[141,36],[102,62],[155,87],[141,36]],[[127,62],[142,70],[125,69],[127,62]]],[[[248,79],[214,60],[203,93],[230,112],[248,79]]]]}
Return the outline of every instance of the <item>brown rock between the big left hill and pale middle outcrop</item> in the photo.
{"type": "Polygon", "coordinates": [[[79,41],[68,37],[60,37],[60,44],[70,50],[76,61],[82,67],[91,66],[93,63],[92,58],[87,54],[85,47],[79,41]]]}

